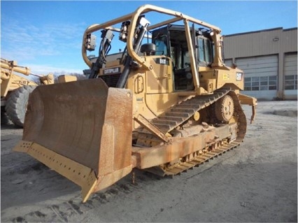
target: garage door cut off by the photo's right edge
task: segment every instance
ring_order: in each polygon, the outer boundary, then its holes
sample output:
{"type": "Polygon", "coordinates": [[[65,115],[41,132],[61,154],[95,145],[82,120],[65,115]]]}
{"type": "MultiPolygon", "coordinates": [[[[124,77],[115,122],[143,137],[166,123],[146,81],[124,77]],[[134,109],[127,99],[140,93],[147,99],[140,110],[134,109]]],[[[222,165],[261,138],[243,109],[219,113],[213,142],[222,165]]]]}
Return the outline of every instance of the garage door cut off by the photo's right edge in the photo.
{"type": "Polygon", "coordinates": [[[285,99],[297,99],[297,53],[285,55],[283,67],[285,99]]]}

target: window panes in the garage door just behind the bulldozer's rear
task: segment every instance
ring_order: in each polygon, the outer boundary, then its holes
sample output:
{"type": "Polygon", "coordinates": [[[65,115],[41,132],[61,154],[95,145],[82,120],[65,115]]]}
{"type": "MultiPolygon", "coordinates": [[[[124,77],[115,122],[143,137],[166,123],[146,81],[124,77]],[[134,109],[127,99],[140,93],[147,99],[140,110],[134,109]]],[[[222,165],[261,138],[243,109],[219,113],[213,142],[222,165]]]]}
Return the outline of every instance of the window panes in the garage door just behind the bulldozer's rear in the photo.
{"type": "MultiPolygon", "coordinates": [[[[297,83],[297,78],[296,78],[297,83]]],[[[277,89],[277,77],[251,77],[244,78],[244,90],[245,91],[267,91],[277,89]]]]}

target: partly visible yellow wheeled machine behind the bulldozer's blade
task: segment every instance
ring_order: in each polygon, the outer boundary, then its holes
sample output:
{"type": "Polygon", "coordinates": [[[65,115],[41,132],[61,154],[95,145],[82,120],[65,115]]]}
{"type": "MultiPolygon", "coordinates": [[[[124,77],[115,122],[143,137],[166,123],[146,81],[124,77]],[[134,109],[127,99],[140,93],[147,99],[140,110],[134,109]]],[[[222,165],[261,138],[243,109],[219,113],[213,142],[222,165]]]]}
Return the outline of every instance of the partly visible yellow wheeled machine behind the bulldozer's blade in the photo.
{"type": "Polygon", "coordinates": [[[42,85],[54,83],[54,76],[51,73],[48,75],[36,75],[31,73],[27,66],[19,66],[16,61],[9,61],[3,58],[1,58],[0,64],[1,124],[5,124],[9,119],[15,126],[23,127],[29,94],[38,86],[38,83],[27,78],[26,75],[38,76],[42,85]]]}

